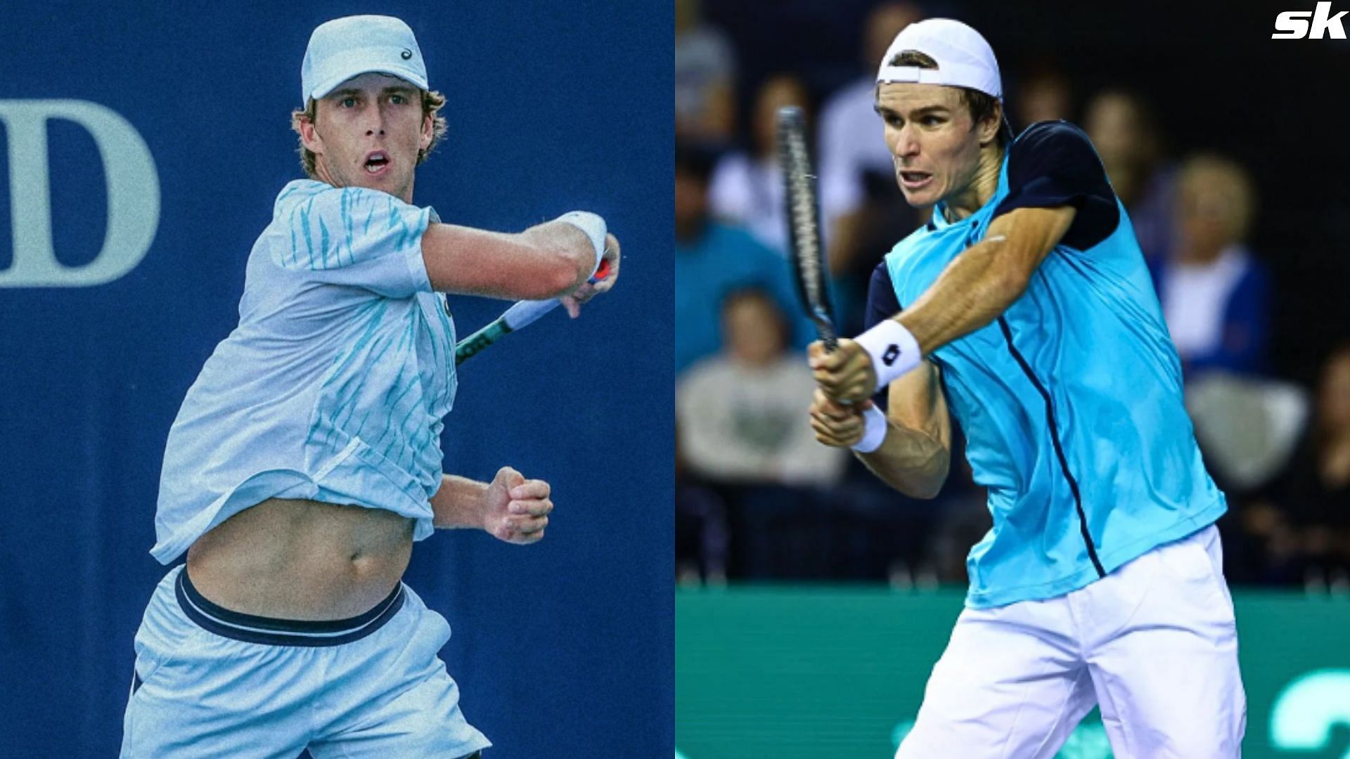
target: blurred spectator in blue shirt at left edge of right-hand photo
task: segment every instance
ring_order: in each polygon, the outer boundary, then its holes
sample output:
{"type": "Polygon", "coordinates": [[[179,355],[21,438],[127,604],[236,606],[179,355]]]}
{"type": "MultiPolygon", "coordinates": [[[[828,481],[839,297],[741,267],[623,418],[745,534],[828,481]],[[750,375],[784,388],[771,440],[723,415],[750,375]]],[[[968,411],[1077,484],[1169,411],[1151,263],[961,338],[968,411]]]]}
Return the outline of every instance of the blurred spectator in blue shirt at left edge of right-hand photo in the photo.
{"type": "MultiPolygon", "coordinates": [[[[791,273],[782,257],[745,230],[709,216],[713,161],[706,149],[683,145],[675,149],[676,374],[721,347],[717,307],[728,292],[760,286],[774,293],[783,309],[792,309],[796,303],[791,273]]],[[[798,346],[810,339],[805,317],[796,320],[794,335],[798,346]]]]}

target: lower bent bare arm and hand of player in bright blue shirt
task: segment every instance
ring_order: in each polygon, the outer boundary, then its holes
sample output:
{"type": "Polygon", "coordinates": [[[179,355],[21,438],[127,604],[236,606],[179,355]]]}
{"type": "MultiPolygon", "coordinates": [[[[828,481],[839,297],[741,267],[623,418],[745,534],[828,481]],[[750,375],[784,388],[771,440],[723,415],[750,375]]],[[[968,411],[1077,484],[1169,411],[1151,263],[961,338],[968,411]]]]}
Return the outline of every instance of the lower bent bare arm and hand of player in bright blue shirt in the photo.
{"type": "MultiPolygon", "coordinates": [[[[818,351],[813,346],[813,351],[818,351]]],[[[882,446],[855,455],[883,482],[913,498],[932,498],[946,482],[952,461],[952,417],[940,385],[940,370],[925,361],[891,382],[882,446]]],[[[819,389],[811,402],[811,428],[826,446],[856,446],[865,432],[872,401],[845,405],[819,389]]]]}

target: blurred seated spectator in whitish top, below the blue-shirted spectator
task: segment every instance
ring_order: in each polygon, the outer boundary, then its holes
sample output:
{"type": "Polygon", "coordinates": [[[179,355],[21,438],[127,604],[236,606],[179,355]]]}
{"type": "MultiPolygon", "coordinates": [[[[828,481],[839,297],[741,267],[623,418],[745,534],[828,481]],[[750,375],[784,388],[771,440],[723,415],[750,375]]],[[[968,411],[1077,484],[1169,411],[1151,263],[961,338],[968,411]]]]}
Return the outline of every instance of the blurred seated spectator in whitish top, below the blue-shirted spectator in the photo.
{"type": "Polygon", "coordinates": [[[833,573],[833,490],[849,456],[802,415],[815,386],[787,350],[787,320],[763,289],[722,301],[724,348],[676,380],[676,566],[682,583],[833,573]],[[697,571],[695,571],[697,570],[697,571]]]}

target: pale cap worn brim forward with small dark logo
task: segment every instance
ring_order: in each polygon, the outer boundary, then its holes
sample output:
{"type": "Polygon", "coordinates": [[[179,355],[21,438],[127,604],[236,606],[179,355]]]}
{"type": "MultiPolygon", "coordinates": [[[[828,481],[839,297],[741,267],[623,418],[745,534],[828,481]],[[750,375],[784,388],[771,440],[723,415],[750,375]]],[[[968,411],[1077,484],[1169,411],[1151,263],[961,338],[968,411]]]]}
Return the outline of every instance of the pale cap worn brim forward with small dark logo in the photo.
{"type": "Polygon", "coordinates": [[[300,101],[328,95],[351,77],[377,72],[427,86],[427,63],[408,24],[393,16],[347,16],[319,24],[300,65],[300,101]]]}

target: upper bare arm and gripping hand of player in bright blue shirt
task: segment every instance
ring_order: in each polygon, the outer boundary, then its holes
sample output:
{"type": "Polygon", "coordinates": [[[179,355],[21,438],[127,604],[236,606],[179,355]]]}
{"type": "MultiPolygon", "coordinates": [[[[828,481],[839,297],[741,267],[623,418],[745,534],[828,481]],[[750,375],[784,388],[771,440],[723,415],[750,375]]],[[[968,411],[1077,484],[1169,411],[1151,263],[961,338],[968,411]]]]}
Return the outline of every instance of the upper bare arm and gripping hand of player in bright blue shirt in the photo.
{"type": "MultiPolygon", "coordinates": [[[[956,257],[911,307],[892,317],[926,355],[984,327],[1022,296],[1037,266],[1073,223],[1073,207],[1018,208],[994,219],[984,240],[956,257]]],[[[833,354],[811,359],[825,394],[857,402],[876,389],[871,355],[842,339],[833,354]]]]}

